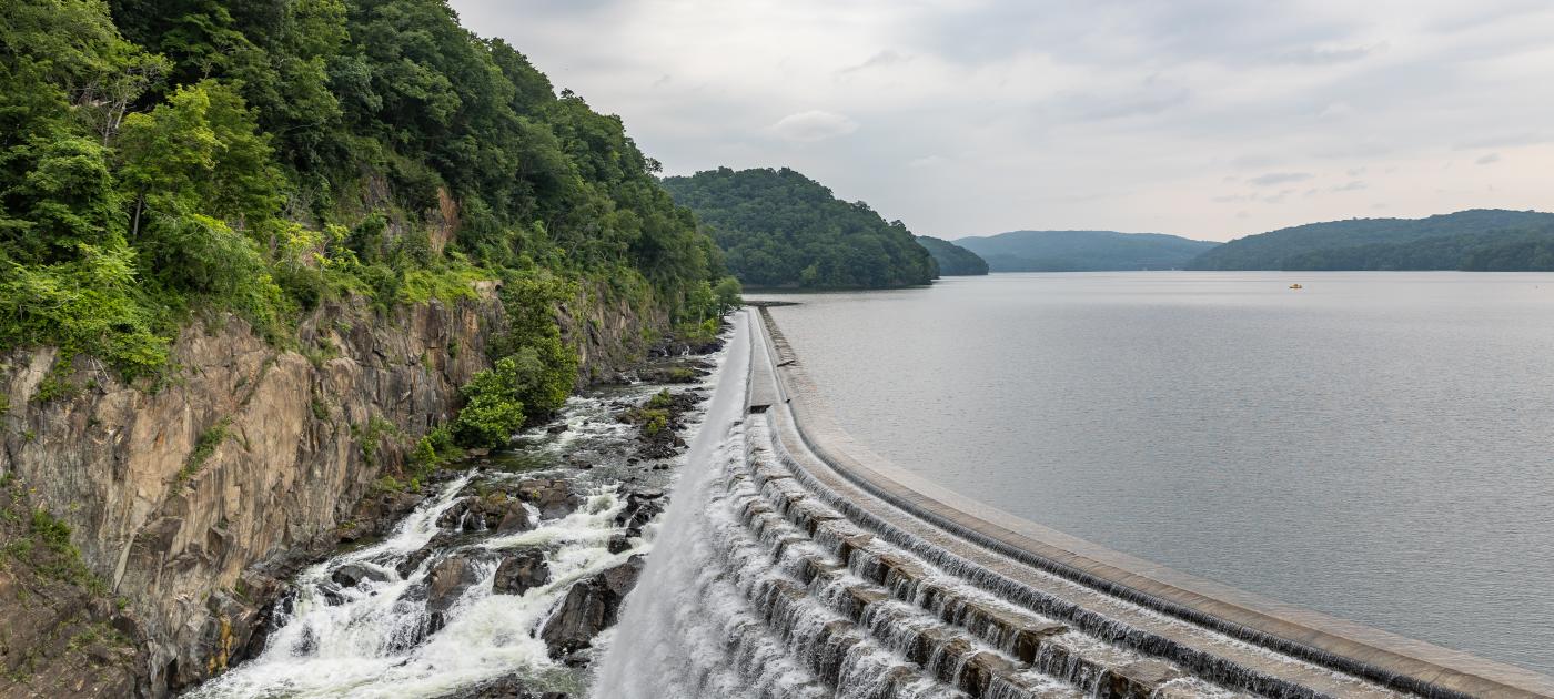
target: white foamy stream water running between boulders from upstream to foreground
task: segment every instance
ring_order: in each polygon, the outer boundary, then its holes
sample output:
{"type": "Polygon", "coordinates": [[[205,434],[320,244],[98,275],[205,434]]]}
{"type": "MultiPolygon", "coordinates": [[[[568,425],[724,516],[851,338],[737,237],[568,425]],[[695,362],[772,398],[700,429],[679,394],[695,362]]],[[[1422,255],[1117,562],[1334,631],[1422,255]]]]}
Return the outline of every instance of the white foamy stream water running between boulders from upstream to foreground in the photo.
{"type": "MultiPolygon", "coordinates": [[[[718,381],[715,371],[706,388],[718,381]]],[[[738,370],[743,381],[744,370],[738,370]]],[[[539,691],[569,691],[580,696],[587,677],[549,657],[539,629],[559,606],[573,582],[625,564],[646,553],[657,523],[643,527],[640,539],[620,553],[609,553],[612,536],[622,533],[615,517],[626,508],[626,497],[615,478],[642,485],[667,485],[670,472],[637,472],[620,463],[620,449],[629,449],[636,429],[618,423],[614,412],[620,401],[645,399],[659,387],[634,385],[614,398],[573,396],[561,423],[566,430],[547,435],[536,430],[528,447],[503,455],[503,463],[559,464],[563,458],[587,454],[612,458],[608,468],[573,471],[544,468],[519,472],[469,472],[444,485],[407,514],[384,541],[337,555],[303,570],[292,584],[289,604],[275,610],[264,651],[232,671],[185,694],[196,699],[270,697],[438,697],[483,682],[517,676],[539,691]],[[606,457],[615,454],[615,457],[606,457]],[[584,497],[577,511],[541,520],[539,511],[524,503],[536,527],[510,534],[469,533],[452,542],[434,541],[438,519],[471,489],[502,489],[503,482],[524,478],[566,478],[584,497]],[[426,556],[423,548],[434,547],[426,556]],[[542,550],[550,581],[522,595],[493,593],[493,581],[503,551],[542,550]],[[401,575],[399,569],[415,555],[420,564],[401,575]],[[446,621],[432,629],[427,610],[427,582],[432,569],[451,556],[468,556],[477,581],[449,607],[446,621]],[[376,572],[382,581],[362,581],[342,587],[331,576],[347,565],[376,572]],[[429,632],[430,631],[430,632],[429,632]]],[[[699,410],[682,416],[687,429],[701,424],[699,410]]],[[[629,454],[625,452],[625,454],[629,454]]],[[[591,458],[591,461],[592,461],[591,458]]],[[[678,463],[681,460],[674,460],[678,463]]],[[[645,466],[643,466],[645,468],[645,466]]],[[[483,492],[483,491],[482,491],[483,492]]],[[[465,528],[460,519],[457,531],[465,528]]],[[[595,649],[608,646],[609,632],[595,638],[595,649]]],[[[603,651],[598,651],[603,652],[603,651]]]]}

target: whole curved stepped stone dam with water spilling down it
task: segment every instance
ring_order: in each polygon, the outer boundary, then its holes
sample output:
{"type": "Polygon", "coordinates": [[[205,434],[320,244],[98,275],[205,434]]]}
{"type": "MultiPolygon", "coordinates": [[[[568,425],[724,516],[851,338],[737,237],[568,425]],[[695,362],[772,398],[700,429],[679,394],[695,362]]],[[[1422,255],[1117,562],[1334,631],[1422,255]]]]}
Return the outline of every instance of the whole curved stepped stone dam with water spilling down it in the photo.
{"type": "Polygon", "coordinates": [[[1551,697],[1554,679],[1066,536],[873,455],[735,323],[598,697],[1551,697]]]}

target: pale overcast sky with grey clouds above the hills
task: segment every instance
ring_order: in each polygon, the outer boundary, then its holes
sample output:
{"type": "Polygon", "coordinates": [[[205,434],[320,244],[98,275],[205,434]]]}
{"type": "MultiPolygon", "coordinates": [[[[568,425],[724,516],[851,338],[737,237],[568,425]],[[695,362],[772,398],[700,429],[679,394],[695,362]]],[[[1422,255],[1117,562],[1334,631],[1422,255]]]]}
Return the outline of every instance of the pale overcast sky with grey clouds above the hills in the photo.
{"type": "Polygon", "coordinates": [[[665,174],[918,235],[1554,210],[1548,0],[451,0],[665,174]]]}

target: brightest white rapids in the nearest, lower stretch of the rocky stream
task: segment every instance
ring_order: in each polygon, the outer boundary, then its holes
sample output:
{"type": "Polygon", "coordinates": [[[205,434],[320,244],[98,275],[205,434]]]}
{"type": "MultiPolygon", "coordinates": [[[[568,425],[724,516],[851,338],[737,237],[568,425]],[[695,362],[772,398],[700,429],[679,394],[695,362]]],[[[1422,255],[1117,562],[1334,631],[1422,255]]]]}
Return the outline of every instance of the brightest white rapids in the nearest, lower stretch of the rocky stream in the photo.
{"type": "Polygon", "coordinates": [[[566,685],[567,677],[558,677],[564,669],[533,631],[573,581],[639,553],[605,547],[623,500],[612,488],[600,488],[566,517],[455,545],[416,564],[412,556],[441,531],[437,520],[476,477],[448,483],[387,541],[308,569],[277,610],[264,652],[191,696],[435,697],[525,669],[566,685]],[[550,582],[522,595],[493,593],[497,558],[480,555],[530,547],[553,551],[547,556],[550,582]],[[438,562],[460,555],[471,558],[472,582],[444,612],[446,624],[434,628],[427,578],[438,562]],[[364,578],[342,586],[342,570],[364,578]]]}

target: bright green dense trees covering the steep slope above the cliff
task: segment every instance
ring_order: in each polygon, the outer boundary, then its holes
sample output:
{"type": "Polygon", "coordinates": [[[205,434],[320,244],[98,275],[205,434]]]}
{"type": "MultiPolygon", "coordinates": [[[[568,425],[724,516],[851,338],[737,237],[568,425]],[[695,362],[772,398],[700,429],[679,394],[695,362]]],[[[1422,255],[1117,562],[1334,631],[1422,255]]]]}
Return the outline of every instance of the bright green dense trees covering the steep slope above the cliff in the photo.
{"type": "Polygon", "coordinates": [[[329,300],[502,280],[514,329],[462,433],[505,436],[573,381],[552,311],[581,281],[720,312],[718,252],[656,171],[443,0],[6,3],[0,346],[155,381],[200,314],[284,345],[329,300]]]}

